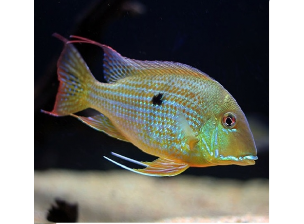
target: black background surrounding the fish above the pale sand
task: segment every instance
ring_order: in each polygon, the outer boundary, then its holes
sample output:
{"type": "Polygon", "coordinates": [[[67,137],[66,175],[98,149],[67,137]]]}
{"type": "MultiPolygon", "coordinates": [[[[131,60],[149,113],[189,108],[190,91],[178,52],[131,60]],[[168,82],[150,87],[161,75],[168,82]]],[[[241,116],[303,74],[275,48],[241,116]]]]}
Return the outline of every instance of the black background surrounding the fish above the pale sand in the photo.
{"type": "MultiPolygon", "coordinates": [[[[53,33],[88,37],[134,59],[189,64],[234,96],[253,118],[250,126],[262,124],[253,132],[267,133],[268,9],[266,0],[35,0],[35,169],[121,169],[103,158],[111,151],[155,159],[73,117],[40,112],[53,109],[58,87],[56,61],[63,44],[53,33]]],[[[102,50],[88,44],[77,48],[102,81],[102,50]]],[[[254,166],[189,168],[181,175],[268,178],[268,141],[255,140],[254,166]]]]}

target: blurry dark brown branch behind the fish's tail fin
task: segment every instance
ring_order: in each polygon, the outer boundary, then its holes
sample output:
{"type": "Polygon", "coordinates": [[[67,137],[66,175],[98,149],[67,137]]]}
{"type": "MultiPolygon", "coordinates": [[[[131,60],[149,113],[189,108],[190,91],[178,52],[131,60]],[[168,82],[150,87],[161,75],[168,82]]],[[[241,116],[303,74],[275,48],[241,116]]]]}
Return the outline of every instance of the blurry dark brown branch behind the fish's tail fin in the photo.
{"type": "MultiPolygon", "coordinates": [[[[73,34],[76,36],[101,41],[107,25],[110,22],[119,19],[125,12],[126,2],[129,1],[94,1],[91,6],[79,14],[78,22],[76,22],[76,25],[71,29],[71,33],[61,35],[68,38],[69,35],[73,34]]],[[[81,55],[88,60],[95,57],[95,52],[92,53],[89,48],[81,46],[77,46],[77,48],[81,51],[81,55]]],[[[54,59],[48,66],[48,69],[43,75],[41,75],[35,85],[35,112],[40,112],[41,108],[52,110],[51,107],[55,102],[55,96],[58,89],[57,59],[58,55],[54,56],[54,59]]]]}

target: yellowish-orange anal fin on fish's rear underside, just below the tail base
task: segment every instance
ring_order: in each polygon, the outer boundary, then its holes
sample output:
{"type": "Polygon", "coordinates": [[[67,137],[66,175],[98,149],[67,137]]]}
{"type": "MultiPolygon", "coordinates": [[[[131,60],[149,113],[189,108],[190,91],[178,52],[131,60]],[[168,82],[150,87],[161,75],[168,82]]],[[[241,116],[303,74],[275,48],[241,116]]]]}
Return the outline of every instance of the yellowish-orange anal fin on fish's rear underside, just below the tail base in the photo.
{"type": "Polygon", "coordinates": [[[111,137],[129,142],[119,131],[117,131],[111,120],[102,113],[92,117],[77,116],[75,114],[71,114],[71,116],[76,117],[78,120],[97,131],[103,131],[111,137]]]}

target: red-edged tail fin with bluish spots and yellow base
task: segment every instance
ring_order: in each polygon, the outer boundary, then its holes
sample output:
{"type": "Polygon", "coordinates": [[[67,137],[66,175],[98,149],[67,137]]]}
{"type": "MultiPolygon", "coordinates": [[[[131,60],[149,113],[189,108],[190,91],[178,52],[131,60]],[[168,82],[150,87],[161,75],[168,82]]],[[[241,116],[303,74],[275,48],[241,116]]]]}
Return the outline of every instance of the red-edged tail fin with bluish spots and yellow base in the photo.
{"type": "Polygon", "coordinates": [[[58,34],[54,36],[65,43],[57,62],[60,84],[53,111],[42,112],[64,116],[89,107],[87,97],[95,78],[73,44],[68,43],[67,39],[58,34]]]}

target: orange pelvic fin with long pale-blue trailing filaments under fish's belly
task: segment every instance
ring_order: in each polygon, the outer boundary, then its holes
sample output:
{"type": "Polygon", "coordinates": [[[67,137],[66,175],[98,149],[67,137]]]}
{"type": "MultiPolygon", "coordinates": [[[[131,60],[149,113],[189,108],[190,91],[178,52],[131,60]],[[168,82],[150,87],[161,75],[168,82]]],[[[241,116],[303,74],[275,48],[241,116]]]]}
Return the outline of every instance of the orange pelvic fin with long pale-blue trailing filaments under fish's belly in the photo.
{"type": "Polygon", "coordinates": [[[114,164],[120,166],[121,168],[125,168],[128,169],[132,172],[135,173],[139,173],[139,174],[143,174],[143,175],[147,175],[147,176],[157,176],[157,177],[161,177],[161,176],[175,176],[177,174],[182,173],[183,171],[185,171],[187,168],[189,168],[189,165],[186,163],[181,163],[181,162],[177,162],[175,160],[171,160],[171,159],[165,159],[165,158],[158,158],[156,160],[154,160],[153,162],[138,162],[136,160],[130,159],[128,157],[119,155],[117,153],[112,152],[112,154],[120,159],[124,159],[126,161],[141,165],[141,166],[145,166],[146,168],[144,169],[133,169],[133,168],[129,168],[126,167],[106,156],[104,156],[104,158],[106,158],[107,160],[113,162],[114,164]]]}

